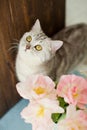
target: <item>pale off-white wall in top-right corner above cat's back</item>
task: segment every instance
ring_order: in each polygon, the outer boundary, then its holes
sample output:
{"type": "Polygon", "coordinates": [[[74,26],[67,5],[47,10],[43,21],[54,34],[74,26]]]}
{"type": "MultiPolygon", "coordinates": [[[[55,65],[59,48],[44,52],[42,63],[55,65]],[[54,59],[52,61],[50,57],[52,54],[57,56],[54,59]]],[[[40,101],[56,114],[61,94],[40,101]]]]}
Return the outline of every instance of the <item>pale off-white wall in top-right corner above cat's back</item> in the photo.
{"type": "Polygon", "coordinates": [[[87,23],[87,0],[66,0],[66,26],[87,23]]]}

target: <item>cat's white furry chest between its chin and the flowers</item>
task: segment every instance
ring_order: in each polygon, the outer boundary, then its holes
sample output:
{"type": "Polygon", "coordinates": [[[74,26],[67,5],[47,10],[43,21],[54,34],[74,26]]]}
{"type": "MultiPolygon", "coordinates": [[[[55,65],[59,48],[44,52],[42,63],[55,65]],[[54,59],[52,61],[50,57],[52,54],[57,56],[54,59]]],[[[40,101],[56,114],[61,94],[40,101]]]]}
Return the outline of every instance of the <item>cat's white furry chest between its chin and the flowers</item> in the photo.
{"type": "Polygon", "coordinates": [[[29,75],[43,74],[47,75],[45,67],[41,64],[35,64],[32,61],[16,59],[16,72],[20,81],[24,81],[29,75]]]}

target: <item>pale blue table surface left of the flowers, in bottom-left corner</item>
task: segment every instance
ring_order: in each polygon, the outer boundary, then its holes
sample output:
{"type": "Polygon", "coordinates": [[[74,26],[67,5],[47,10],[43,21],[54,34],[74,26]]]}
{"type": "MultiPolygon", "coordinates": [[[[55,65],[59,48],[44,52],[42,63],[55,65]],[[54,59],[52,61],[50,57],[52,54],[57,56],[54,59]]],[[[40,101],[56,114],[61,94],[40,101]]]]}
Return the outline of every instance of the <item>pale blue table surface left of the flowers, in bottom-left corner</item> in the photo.
{"type": "Polygon", "coordinates": [[[0,119],[0,130],[32,130],[31,124],[27,124],[20,116],[20,112],[28,101],[22,99],[5,116],[0,119]]]}

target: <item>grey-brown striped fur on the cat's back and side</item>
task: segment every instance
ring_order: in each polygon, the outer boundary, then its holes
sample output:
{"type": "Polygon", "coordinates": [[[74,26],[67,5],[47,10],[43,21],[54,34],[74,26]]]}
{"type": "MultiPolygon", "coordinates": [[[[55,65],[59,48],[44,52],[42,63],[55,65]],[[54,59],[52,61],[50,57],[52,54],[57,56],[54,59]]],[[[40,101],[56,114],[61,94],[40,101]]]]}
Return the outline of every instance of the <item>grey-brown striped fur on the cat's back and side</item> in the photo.
{"type": "MultiPolygon", "coordinates": [[[[87,55],[87,25],[77,24],[66,27],[53,39],[59,39],[64,42],[63,46],[56,53],[55,77],[66,74],[77,64],[81,63],[87,55]]],[[[51,73],[52,75],[52,73],[51,73]]]]}

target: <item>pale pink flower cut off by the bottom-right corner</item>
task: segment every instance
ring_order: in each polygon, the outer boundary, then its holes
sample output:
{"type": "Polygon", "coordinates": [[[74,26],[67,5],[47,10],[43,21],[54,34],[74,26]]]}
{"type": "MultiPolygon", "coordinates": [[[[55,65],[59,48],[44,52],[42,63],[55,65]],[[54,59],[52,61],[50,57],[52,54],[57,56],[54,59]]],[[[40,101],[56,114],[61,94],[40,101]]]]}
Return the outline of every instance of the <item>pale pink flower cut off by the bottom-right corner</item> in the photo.
{"type": "Polygon", "coordinates": [[[57,130],[87,130],[87,113],[76,111],[75,106],[67,107],[65,119],[59,120],[57,130]]]}

